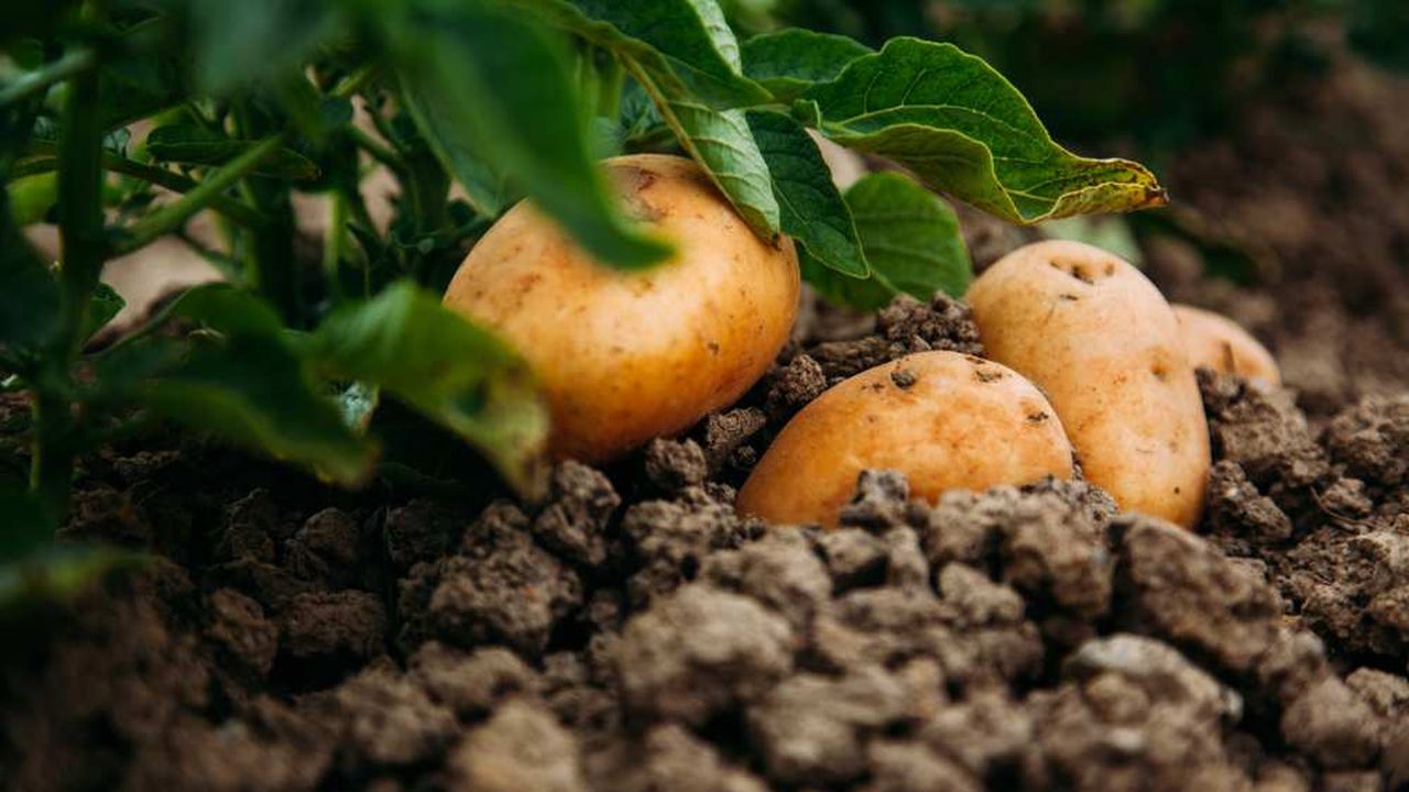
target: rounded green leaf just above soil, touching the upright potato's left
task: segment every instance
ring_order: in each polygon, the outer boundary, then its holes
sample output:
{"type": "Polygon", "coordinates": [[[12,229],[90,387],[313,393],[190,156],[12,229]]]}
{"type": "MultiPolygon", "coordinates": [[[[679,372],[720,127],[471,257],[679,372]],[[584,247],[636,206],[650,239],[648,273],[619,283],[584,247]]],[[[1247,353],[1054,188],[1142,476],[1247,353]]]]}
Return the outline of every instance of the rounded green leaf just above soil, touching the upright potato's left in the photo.
{"type": "Polygon", "coordinates": [[[960,297],[968,290],[968,251],[958,217],[943,199],[895,172],[862,178],[845,197],[871,278],[843,278],[805,259],[803,276],[824,297],[874,310],[902,292],[929,300],[936,292],[960,297]]]}

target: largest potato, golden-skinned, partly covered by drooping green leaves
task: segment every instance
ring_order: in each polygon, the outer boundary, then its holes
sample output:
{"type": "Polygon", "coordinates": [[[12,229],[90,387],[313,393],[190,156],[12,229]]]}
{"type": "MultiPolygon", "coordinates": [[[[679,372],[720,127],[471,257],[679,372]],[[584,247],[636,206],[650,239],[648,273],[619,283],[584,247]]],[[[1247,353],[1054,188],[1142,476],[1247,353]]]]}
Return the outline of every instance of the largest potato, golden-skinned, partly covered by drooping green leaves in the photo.
{"type": "Polygon", "coordinates": [[[675,256],[620,272],[531,203],[479,240],[445,304],[499,331],[538,375],[557,457],[607,459],[738,399],[797,311],[797,254],[759,240],[693,161],[606,162],[626,211],[675,256]]]}

